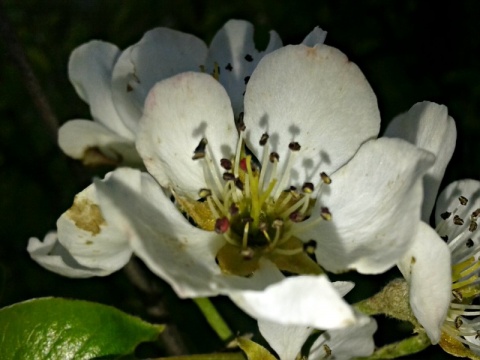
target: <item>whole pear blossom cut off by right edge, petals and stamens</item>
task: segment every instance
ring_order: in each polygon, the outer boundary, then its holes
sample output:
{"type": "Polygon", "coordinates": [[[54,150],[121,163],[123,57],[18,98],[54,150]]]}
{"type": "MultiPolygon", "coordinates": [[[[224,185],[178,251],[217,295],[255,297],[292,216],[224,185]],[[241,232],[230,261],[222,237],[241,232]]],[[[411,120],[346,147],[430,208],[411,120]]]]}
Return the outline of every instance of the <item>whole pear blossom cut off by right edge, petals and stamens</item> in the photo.
{"type": "Polygon", "coordinates": [[[480,182],[448,185],[438,196],[431,228],[425,222],[455,148],[455,123],[445,106],[423,102],[394,119],[386,133],[436,155],[424,179],[423,222],[399,263],[410,283],[412,311],[433,344],[456,356],[480,358],[480,306],[473,304],[480,295],[480,182]]]}

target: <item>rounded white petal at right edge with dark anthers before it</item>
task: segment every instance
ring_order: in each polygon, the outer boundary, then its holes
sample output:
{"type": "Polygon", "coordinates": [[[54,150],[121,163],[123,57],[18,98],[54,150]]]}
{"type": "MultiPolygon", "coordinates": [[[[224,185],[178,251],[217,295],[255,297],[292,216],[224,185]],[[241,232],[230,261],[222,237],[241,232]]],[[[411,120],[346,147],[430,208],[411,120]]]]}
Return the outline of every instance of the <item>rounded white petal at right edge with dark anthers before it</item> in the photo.
{"type": "MultiPolygon", "coordinates": [[[[478,253],[476,249],[480,246],[480,231],[475,230],[470,232],[471,215],[474,211],[480,209],[480,181],[473,179],[464,179],[455,181],[449,184],[438,196],[437,204],[435,208],[435,220],[437,224],[437,231],[440,236],[448,236],[448,243],[455,248],[453,262],[462,261],[463,256],[470,257],[475,253],[478,253]],[[459,197],[464,196],[468,199],[466,205],[461,205],[459,197]],[[443,221],[441,214],[444,212],[451,212],[452,215],[443,221]],[[464,220],[463,225],[456,225],[453,223],[453,218],[458,215],[464,220]],[[462,244],[452,244],[458,235],[462,234],[458,240],[462,241],[462,244]],[[475,248],[468,248],[464,246],[463,241],[472,239],[475,244],[475,248]],[[463,250],[462,248],[463,247],[463,250]]],[[[478,220],[476,220],[478,223],[478,220]]],[[[453,248],[451,248],[453,251],[453,248]]],[[[478,255],[477,255],[478,256],[478,255]]]]}

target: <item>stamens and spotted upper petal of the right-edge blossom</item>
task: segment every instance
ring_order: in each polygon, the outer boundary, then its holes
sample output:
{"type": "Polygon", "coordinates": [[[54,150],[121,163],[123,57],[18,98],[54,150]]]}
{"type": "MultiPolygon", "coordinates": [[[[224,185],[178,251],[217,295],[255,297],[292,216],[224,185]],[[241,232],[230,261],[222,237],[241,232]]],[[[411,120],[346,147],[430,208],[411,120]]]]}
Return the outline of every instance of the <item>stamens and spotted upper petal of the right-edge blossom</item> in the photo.
{"type": "Polygon", "coordinates": [[[479,217],[480,182],[477,180],[455,181],[438,197],[436,231],[447,242],[452,256],[451,301],[440,345],[457,356],[470,357],[469,350],[477,357],[480,354],[480,305],[474,304],[480,296],[479,217]]]}

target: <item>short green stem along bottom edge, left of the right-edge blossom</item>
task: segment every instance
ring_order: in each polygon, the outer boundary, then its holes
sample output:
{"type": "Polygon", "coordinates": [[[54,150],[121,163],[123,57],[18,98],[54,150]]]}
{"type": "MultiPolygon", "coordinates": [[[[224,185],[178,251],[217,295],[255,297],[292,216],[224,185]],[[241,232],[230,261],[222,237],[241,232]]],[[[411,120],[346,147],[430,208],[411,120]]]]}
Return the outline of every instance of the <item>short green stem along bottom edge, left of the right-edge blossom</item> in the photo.
{"type": "Polygon", "coordinates": [[[425,332],[409,337],[402,341],[382,346],[367,357],[356,358],[356,360],[377,360],[396,359],[402,356],[418,353],[431,345],[425,332]]]}

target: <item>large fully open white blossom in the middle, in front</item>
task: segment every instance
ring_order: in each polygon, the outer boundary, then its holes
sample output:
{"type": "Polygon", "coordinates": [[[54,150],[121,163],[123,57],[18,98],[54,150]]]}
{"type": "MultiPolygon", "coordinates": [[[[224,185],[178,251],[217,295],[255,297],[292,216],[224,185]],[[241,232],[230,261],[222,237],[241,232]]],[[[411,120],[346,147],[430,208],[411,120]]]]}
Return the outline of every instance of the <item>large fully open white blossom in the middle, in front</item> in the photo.
{"type": "Polygon", "coordinates": [[[244,309],[263,306],[263,320],[327,328],[324,311],[336,309],[328,328],[356,323],[324,275],[308,288],[304,277],[283,280],[280,270],[321,274],[309,253],[335,272],[395,265],[416,231],[421,179],[433,156],[402,140],[374,139],[380,118],[373,91],[344,54],[325,45],[266,55],[251,75],[244,109],[237,131],[229,95],[207,74],[156,84],[137,134],[151,175],[118,169],[96,181],[88,207],[74,205],[88,219],[98,204],[95,233],[67,212],[59,224],[69,233],[59,228],[58,241],[82,266],[105,271],[124,265],[131,251],[180,297],[226,294],[244,309]],[[102,240],[103,230],[120,234],[112,243],[102,240]],[[89,259],[96,252],[108,266],[89,259]],[[290,287],[311,311],[288,320],[290,287]],[[284,296],[268,300],[276,291],[284,296]]]}

